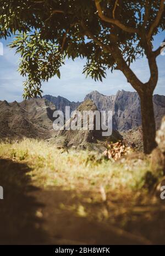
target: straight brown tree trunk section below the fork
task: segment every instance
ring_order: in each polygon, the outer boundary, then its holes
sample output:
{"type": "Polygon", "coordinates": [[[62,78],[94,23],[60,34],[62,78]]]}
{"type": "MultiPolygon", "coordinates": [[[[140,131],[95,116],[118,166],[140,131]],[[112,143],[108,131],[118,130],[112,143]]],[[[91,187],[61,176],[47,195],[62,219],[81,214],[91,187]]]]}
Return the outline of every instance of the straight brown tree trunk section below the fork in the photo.
{"type": "Polygon", "coordinates": [[[141,100],[141,122],[143,132],[144,153],[150,154],[156,148],[156,124],[153,111],[152,92],[140,93],[141,100]]]}

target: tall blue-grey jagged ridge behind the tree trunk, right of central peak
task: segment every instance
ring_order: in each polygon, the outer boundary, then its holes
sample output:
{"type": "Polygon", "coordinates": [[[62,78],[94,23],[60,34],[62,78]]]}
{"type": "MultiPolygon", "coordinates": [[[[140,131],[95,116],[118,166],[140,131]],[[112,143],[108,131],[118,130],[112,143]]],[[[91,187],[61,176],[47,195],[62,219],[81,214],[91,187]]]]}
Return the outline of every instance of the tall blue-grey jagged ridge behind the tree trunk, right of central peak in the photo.
{"type": "MultiPolygon", "coordinates": [[[[98,110],[113,111],[113,129],[126,131],[141,126],[140,98],[137,92],[118,91],[116,95],[105,96],[97,91],[86,95],[85,100],[95,102],[98,110]]],[[[165,96],[154,95],[153,104],[157,129],[165,115],[165,96]]]]}

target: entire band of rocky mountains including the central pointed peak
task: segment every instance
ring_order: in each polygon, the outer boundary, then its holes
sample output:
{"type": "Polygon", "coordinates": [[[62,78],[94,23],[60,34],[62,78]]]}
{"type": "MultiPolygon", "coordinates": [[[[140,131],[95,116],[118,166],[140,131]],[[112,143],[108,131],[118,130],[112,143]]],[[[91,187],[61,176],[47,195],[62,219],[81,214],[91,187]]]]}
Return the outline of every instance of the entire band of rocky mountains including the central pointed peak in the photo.
{"type": "MultiPolygon", "coordinates": [[[[157,129],[165,115],[165,96],[154,95],[155,119],[157,129]]],[[[45,95],[43,98],[32,98],[23,102],[0,101],[0,138],[42,138],[56,140],[62,147],[96,149],[104,148],[105,140],[116,142],[123,138],[126,144],[142,150],[142,130],[140,99],[136,92],[118,91],[116,95],[105,96],[97,91],[86,95],[83,103],[70,102],[63,97],[45,95]],[[113,134],[102,138],[96,130],[61,130],[54,131],[53,112],[58,109],[65,112],[83,110],[112,110],[113,134]],[[118,132],[117,132],[118,130],[118,132]],[[120,135],[121,134],[121,135],[120,135]]],[[[72,120],[72,119],[71,119],[72,120]]]]}

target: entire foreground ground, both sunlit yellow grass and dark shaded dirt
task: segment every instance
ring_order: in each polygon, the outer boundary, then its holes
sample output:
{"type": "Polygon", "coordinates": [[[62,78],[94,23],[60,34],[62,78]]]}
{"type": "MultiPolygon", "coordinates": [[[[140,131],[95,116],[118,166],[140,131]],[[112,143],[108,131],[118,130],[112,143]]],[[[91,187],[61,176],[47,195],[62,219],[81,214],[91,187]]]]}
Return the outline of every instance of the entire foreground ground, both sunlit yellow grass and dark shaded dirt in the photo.
{"type": "Polygon", "coordinates": [[[42,140],[0,144],[0,244],[163,244],[164,201],[141,153],[116,163],[42,140]]]}

